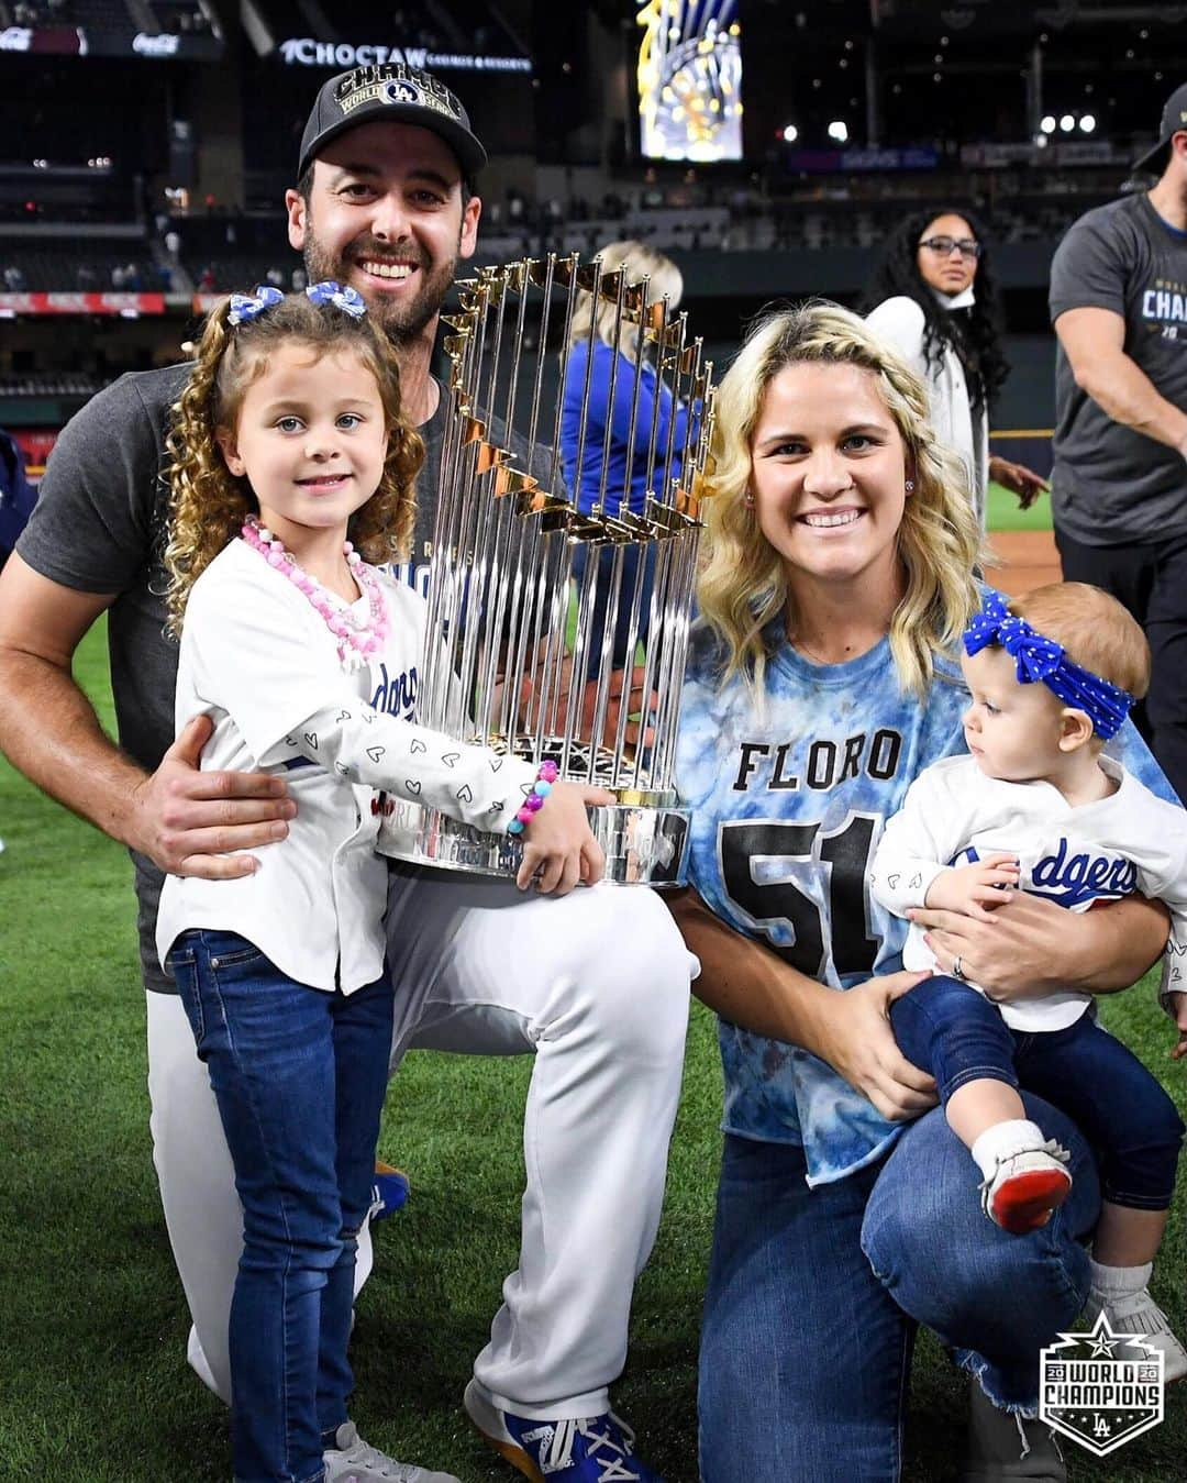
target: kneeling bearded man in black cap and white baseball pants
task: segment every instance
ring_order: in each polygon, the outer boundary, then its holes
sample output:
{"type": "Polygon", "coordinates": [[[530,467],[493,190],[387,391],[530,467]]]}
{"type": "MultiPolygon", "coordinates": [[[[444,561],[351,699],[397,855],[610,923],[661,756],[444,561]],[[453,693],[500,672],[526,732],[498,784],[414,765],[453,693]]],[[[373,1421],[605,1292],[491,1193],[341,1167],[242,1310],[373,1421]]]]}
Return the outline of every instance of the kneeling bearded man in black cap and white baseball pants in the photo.
{"type": "MultiPolygon", "coordinates": [[[[434,77],[403,64],[360,67],[319,92],[286,196],[289,240],[310,280],[356,288],[396,347],[403,411],[428,445],[416,555],[431,531],[446,418],[430,357],[458,260],[474,251],[473,175],[485,159],[465,110],[434,77]]],[[[0,577],[0,746],[136,863],[154,1163],[194,1320],[190,1358],[227,1397],[242,1216],[209,1078],[151,940],[162,872],[253,871],[250,851],[283,839],[293,805],[280,779],[199,771],[205,718],[173,742],[164,437],[188,369],[123,377],[59,439],[37,513],[0,577]],[[104,611],[122,747],[70,673],[104,611]]],[[[413,1046],[535,1056],[520,1264],[465,1407],[529,1477],[547,1462],[550,1483],[656,1483],[609,1409],[609,1385],[659,1219],[689,954],[646,890],[525,899],[513,882],[394,866],[388,921],[394,1059],[413,1046]]],[[[369,1258],[360,1240],[360,1274],[369,1258]]],[[[424,1470],[372,1456],[347,1459],[359,1483],[428,1483],[424,1470]]],[[[326,1458],[335,1480],[339,1459],[326,1458]]]]}

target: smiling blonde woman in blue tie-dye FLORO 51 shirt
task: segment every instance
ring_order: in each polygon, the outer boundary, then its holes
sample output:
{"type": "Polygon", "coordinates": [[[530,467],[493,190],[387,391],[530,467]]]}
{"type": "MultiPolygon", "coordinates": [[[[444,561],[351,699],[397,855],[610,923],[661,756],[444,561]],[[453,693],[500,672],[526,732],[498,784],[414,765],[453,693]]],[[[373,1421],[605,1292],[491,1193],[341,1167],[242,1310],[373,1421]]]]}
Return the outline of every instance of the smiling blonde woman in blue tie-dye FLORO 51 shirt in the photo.
{"type": "MultiPolygon", "coordinates": [[[[919,378],[831,304],[756,326],[717,426],[677,761],[695,890],[674,903],[722,1016],[726,1089],[702,1477],[897,1479],[917,1323],[980,1382],[968,1476],[1061,1477],[1025,1418],[1037,1350],[1088,1290],[1092,1160],[1043,1108],[1073,1195],[1027,1237],[984,1219],[934,1083],[888,1023],[923,977],[901,967],[907,924],[867,893],[907,786],[963,750],[977,516],[919,378]],[[1024,1450],[1037,1471],[1012,1471],[1024,1450]]],[[[1132,747],[1129,765],[1156,773],[1132,747]]],[[[916,915],[941,971],[960,955],[999,1000],[1063,989],[1068,970],[1089,992],[1128,985],[1166,940],[1137,900],[1071,921],[1021,893],[988,925],[916,915]]]]}

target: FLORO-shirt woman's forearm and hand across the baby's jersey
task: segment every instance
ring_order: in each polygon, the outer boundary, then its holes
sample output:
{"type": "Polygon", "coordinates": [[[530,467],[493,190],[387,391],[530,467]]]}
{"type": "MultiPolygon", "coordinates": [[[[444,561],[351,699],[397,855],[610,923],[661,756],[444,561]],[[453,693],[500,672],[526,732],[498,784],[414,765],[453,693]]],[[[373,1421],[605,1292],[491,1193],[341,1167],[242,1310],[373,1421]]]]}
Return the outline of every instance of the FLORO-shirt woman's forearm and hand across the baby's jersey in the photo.
{"type": "Polygon", "coordinates": [[[1159,961],[1171,922],[1162,902],[1144,896],[1070,912],[1030,891],[1014,891],[988,921],[932,908],[910,918],[928,928],[941,973],[959,955],[962,971],[999,1004],[1128,989],[1159,961]]]}

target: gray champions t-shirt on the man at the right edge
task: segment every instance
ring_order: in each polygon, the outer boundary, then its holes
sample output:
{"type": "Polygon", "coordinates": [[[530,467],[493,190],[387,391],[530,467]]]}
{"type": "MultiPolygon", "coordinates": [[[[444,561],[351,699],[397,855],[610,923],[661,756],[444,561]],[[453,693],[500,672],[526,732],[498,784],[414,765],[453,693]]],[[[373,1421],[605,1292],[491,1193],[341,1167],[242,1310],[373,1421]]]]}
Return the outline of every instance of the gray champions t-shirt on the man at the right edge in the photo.
{"type": "MultiPolygon", "coordinates": [[[[1051,264],[1052,323],[1070,308],[1125,319],[1125,353],[1159,393],[1187,409],[1187,233],[1146,194],[1086,212],[1051,264]]],[[[1180,452],[1116,423],[1055,362],[1055,525],[1088,546],[1157,541],[1187,531],[1187,463],[1180,452]]]]}

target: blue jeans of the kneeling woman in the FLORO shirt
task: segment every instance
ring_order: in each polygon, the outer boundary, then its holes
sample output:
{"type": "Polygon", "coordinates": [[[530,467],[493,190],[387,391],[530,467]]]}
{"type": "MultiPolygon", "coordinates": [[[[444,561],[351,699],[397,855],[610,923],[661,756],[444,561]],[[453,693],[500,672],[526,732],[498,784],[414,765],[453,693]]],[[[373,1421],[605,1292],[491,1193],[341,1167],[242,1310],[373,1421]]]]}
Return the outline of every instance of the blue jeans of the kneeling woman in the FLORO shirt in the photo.
{"type": "Polygon", "coordinates": [[[803,1149],[726,1137],[701,1333],[704,1483],[898,1479],[920,1323],[997,1406],[1034,1413],[1039,1350],[1088,1295],[1080,1241],[1100,1188],[1068,1118],[1024,1100],[1071,1151],[1074,1179],[1024,1237],[984,1216],[940,1109],[880,1164],[815,1189],[803,1149]]]}

